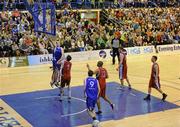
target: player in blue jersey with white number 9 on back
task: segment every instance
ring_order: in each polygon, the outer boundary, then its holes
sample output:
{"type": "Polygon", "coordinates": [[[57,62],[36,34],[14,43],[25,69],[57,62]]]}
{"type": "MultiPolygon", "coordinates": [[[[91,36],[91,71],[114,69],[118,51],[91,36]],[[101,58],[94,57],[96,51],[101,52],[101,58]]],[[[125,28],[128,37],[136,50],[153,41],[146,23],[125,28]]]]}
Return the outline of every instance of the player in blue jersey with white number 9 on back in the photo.
{"type": "Polygon", "coordinates": [[[96,113],[94,112],[95,105],[97,103],[97,99],[100,93],[100,87],[98,80],[93,76],[93,71],[88,71],[88,77],[84,81],[85,89],[84,89],[84,96],[86,97],[86,106],[87,112],[92,117],[93,123],[99,123],[96,120],[96,113]]]}

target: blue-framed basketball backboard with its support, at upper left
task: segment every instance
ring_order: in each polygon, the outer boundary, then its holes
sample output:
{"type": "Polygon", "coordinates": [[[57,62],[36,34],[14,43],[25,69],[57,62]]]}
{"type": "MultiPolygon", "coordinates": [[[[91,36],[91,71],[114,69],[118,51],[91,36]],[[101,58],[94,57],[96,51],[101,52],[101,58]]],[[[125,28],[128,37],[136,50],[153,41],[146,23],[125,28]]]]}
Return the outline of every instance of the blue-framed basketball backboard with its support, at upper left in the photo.
{"type": "Polygon", "coordinates": [[[35,32],[56,35],[56,10],[52,2],[42,0],[24,0],[26,7],[33,16],[35,32]]]}

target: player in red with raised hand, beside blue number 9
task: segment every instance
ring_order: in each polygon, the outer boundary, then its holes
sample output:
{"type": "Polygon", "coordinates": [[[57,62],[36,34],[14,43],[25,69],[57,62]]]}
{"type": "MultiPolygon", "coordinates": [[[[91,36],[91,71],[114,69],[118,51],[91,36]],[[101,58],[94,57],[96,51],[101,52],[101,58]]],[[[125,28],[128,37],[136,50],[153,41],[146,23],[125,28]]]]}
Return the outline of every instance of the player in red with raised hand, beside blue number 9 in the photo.
{"type": "MultiPolygon", "coordinates": [[[[106,102],[108,102],[111,106],[112,109],[114,109],[114,104],[111,103],[111,101],[108,99],[106,96],[106,79],[108,78],[108,73],[105,68],[103,68],[103,62],[98,61],[97,62],[97,69],[94,71],[94,74],[96,74],[96,78],[99,81],[99,86],[100,86],[100,94],[97,100],[97,106],[98,106],[98,112],[97,114],[101,114],[101,105],[100,105],[100,97],[102,97],[106,102]]],[[[87,64],[88,70],[90,70],[89,64],[87,64]]]]}

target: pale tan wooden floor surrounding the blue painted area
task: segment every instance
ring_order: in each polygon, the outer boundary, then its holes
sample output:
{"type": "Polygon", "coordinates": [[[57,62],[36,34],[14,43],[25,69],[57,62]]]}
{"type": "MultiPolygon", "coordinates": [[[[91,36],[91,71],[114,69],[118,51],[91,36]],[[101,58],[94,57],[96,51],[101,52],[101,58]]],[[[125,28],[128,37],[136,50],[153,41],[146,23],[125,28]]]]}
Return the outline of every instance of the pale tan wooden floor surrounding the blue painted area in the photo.
{"type": "MultiPolygon", "coordinates": [[[[151,55],[129,56],[128,75],[132,87],[142,92],[147,92],[151,71],[151,55]]],[[[167,101],[180,106],[180,52],[161,53],[158,56],[160,65],[160,78],[162,89],[168,94],[167,101]]],[[[109,81],[118,80],[117,65],[112,65],[111,60],[103,59],[104,67],[109,72],[109,81]]],[[[83,84],[87,76],[86,63],[92,69],[96,68],[95,60],[73,62],[72,86],[83,84]]],[[[0,70],[0,95],[24,93],[37,90],[51,89],[49,82],[52,71],[50,65],[1,68],[0,70]]],[[[161,95],[153,90],[152,94],[158,98],[161,95]]],[[[133,106],[133,105],[132,105],[133,106]]],[[[150,113],[128,117],[118,121],[106,121],[102,127],[180,127],[180,108],[164,112],[150,113]]],[[[87,125],[90,127],[90,125],[87,125]]]]}

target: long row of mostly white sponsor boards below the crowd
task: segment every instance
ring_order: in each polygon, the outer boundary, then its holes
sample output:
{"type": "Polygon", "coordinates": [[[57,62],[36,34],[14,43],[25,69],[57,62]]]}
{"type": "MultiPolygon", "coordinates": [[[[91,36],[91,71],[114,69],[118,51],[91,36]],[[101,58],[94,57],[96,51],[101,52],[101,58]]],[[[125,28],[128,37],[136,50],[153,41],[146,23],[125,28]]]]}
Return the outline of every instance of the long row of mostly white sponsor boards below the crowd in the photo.
{"type": "MultiPolygon", "coordinates": [[[[127,50],[128,55],[151,54],[155,52],[154,46],[130,47],[125,49],[127,50]]],[[[159,52],[180,51],[180,44],[160,45],[157,46],[157,49],[159,52]]],[[[71,52],[65,53],[65,56],[67,56],[68,54],[72,56],[72,61],[98,60],[102,58],[111,58],[112,50],[104,49],[95,51],[71,52]]],[[[0,58],[0,67],[19,67],[51,63],[52,54],[34,55],[27,57],[0,58]]]]}

